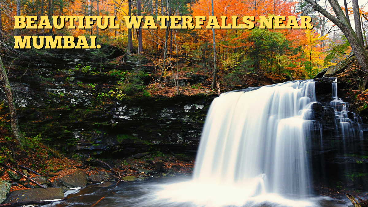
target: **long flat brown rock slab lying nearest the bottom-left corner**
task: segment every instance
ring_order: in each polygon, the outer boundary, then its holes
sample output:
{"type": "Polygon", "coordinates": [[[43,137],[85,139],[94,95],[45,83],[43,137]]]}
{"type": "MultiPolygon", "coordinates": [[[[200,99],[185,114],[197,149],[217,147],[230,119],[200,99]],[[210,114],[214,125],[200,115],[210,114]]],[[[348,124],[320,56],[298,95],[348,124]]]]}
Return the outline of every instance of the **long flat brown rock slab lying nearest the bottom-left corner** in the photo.
{"type": "Polygon", "coordinates": [[[61,188],[35,188],[26,190],[15,190],[8,195],[5,203],[33,200],[53,200],[63,198],[64,192],[61,188]]]}

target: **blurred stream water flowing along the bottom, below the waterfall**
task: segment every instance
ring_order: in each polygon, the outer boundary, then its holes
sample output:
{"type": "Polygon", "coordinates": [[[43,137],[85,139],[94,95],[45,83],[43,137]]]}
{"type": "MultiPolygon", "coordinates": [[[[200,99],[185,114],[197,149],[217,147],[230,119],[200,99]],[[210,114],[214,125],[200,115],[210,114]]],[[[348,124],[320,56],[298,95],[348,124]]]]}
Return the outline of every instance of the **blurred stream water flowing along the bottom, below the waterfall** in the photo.
{"type": "MultiPolygon", "coordinates": [[[[98,185],[90,185],[84,189],[70,192],[65,200],[56,201],[49,205],[42,207],[212,207],[219,206],[220,203],[206,200],[208,192],[197,194],[197,200],[193,200],[194,193],[198,193],[198,189],[188,189],[184,186],[189,186],[191,183],[191,175],[177,175],[170,178],[156,178],[144,181],[120,182],[118,185],[110,187],[99,187],[98,185]],[[170,189],[170,187],[181,186],[181,189],[170,189]],[[169,188],[168,188],[169,187],[169,188]],[[175,196],[175,193],[183,193],[182,196],[175,196]],[[183,202],[182,199],[191,201],[183,202]],[[199,199],[199,198],[202,198],[199,199]],[[199,199],[199,200],[198,200],[199,199]],[[206,204],[199,204],[206,202],[206,204]]],[[[208,189],[207,189],[208,190],[208,189]]],[[[209,191],[210,192],[210,191],[209,191]]],[[[238,196],[235,191],[233,196],[238,196]]],[[[229,199],[234,199],[229,195],[223,195],[229,199]]],[[[223,199],[223,196],[220,196],[223,199]]],[[[241,197],[238,197],[241,200],[241,197]]],[[[245,197],[244,197],[245,198],[245,197]]],[[[243,200],[244,200],[243,198],[243,200]]],[[[326,196],[314,195],[304,200],[287,200],[278,197],[275,194],[266,194],[263,197],[255,197],[255,199],[248,200],[245,204],[240,205],[244,207],[347,207],[351,203],[344,199],[336,200],[326,196]],[[272,199],[276,199],[272,201],[272,199]]],[[[238,205],[225,205],[238,206],[238,205]]]]}

